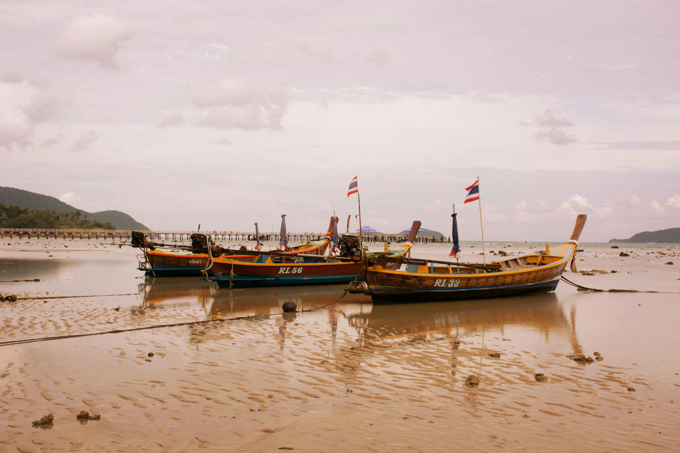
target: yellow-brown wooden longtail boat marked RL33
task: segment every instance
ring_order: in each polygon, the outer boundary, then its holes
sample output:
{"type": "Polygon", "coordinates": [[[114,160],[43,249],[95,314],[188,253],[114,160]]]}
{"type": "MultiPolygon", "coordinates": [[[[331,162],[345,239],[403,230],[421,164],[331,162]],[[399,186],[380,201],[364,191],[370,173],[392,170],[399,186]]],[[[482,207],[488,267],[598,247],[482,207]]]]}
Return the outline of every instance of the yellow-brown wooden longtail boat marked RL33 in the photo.
{"type": "MultiPolygon", "coordinates": [[[[500,297],[537,291],[554,291],[573,259],[586,215],[579,214],[571,239],[559,247],[482,264],[435,266],[420,261],[407,264],[406,272],[367,266],[364,281],[350,285],[350,293],[370,295],[373,304],[500,297]],[[481,271],[481,272],[480,272],[481,271]]],[[[415,261],[415,260],[414,260],[415,261]]]]}

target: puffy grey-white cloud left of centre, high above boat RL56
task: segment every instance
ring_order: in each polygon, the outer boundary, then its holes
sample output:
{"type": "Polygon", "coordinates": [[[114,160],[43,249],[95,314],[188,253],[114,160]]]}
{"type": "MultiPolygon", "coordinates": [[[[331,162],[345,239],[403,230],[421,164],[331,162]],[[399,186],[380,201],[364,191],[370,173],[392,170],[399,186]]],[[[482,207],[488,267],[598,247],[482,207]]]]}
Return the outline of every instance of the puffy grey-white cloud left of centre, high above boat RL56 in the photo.
{"type": "Polygon", "coordinates": [[[192,85],[188,96],[197,107],[211,107],[202,124],[216,129],[281,129],[288,107],[282,85],[260,87],[237,77],[192,85]]]}

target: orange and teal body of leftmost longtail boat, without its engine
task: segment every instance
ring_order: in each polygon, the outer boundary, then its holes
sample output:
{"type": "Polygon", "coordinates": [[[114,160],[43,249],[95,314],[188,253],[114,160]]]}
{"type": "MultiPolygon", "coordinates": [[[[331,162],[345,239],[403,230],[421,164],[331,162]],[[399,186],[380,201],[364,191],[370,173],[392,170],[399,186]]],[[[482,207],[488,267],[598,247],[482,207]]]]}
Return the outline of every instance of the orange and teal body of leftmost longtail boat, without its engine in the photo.
{"type": "MultiPolygon", "coordinates": [[[[330,244],[330,235],[332,232],[333,218],[330,219],[330,227],[322,240],[307,242],[295,247],[287,247],[286,251],[272,250],[270,252],[284,255],[297,255],[299,253],[323,255],[326,253],[328,244],[330,244]]],[[[220,250],[216,247],[212,248],[214,249],[214,251],[212,251],[214,260],[217,260],[218,257],[224,253],[224,249],[220,250]]],[[[235,261],[255,262],[260,259],[260,255],[254,255],[252,253],[243,255],[239,254],[238,251],[233,251],[233,254],[231,254],[231,252],[229,253],[230,255],[226,255],[228,256],[228,259],[235,261]]],[[[262,254],[267,254],[267,252],[262,252],[262,254]]],[[[209,263],[207,253],[188,254],[162,250],[146,250],[144,257],[144,261],[141,261],[141,259],[139,261],[139,270],[143,270],[146,272],[146,275],[154,277],[201,276],[203,270],[205,270],[209,263]]],[[[213,274],[211,268],[207,270],[207,274],[213,274]]]]}

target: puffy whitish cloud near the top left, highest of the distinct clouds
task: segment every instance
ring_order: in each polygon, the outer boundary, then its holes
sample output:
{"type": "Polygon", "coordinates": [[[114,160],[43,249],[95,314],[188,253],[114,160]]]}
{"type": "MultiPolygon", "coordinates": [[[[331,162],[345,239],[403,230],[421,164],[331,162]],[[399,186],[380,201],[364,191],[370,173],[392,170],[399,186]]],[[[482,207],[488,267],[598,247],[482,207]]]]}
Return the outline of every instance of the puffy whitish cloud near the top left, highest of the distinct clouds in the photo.
{"type": "Polygon", "coordinates": [[[78,16],[71,20],[52,50],[71,60],[95,61],[102,67],[118,69],[116,53],[122,41],[135,35],[135,29],[108,14],[78,16]]]}

